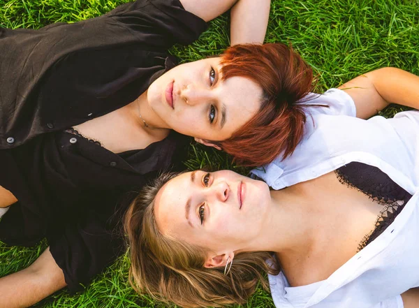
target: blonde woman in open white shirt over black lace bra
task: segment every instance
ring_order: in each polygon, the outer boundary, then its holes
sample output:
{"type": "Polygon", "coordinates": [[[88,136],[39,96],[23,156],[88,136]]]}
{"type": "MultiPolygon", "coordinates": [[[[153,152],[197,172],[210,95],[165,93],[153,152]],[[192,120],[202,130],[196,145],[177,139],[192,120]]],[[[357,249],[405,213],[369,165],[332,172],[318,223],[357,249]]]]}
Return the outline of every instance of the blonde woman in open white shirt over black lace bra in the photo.
{"type": "MultiPolygon", "coordinates": [[[[327,98],[419,100],[419,77],[394,68],[346,87],[327,98]]],[[[278,308],[418,307],[419,111],[306,123],[253,171],[267,183],[196,170],[147,186],[125,219],[133,287],[182,307],[245,303],[258,284],[278,308]]]]}

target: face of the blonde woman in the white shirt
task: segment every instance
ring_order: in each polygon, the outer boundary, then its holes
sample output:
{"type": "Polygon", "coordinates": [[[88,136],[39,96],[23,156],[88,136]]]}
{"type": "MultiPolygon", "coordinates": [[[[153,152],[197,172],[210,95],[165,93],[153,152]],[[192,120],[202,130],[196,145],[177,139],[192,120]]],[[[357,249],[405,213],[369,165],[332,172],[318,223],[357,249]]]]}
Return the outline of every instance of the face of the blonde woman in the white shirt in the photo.
{"type": "Polygon", "coordinates": [[[223,254],[251,250],[270,206],[265,182],[222,170],[184,173],[156,196],[159,230],[189,244],[223,254]]]}

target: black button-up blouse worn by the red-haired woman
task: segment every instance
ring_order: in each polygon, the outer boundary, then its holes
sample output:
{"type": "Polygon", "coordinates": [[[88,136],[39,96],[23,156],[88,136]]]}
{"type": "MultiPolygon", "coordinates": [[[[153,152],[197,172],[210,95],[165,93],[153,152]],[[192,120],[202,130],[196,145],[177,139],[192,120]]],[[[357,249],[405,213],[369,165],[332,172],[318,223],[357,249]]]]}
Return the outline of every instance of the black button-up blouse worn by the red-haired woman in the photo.
{"type": "Polygon", "coordinates": [[[19,200],[0,221],[0,240],[47,237],[71,292],[124,251],[117,226],[127,201],[183,159],[188,140],[173,132],[114,154],[66,129],[131,103],[174,66],[168,47],[205,29],[178,0],[138,0],[41,30],[0,29],[0,186],[19,200]]]}

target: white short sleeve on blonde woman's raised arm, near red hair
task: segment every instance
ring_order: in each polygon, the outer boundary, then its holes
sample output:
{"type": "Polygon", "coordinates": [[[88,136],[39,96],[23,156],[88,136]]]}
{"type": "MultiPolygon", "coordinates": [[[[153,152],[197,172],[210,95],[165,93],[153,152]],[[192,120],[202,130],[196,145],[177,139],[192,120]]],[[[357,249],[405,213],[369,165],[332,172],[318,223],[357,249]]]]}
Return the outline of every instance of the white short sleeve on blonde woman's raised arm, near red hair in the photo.
{"type": "Polygon", "coordinates": [[[311,93],[304,99],[304,104],[307,105],[327,105],[328,107],[313,107],[309,108],[307,112],[311,115],[348,115],[356,117],[356,108],[353,99],[349,94],[341,89],[328,89],[323,94],[311,93]]]}

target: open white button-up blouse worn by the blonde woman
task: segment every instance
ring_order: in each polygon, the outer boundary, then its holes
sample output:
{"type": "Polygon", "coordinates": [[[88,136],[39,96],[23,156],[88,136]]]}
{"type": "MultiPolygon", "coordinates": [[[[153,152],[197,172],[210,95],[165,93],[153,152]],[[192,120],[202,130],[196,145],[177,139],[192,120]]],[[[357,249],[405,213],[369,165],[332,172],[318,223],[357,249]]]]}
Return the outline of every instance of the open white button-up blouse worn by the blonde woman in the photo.
{"type": "MultiPolygon", "coordinates": [[[[336,89],[326,94],[337,101],[350,98],[336,89]]],[[[282,189],[360,161],[380,168],[413,197],[376,240],[328,279],[290,287],[284,274],[269,275],[277,307],[402,308],[400,294],[419,286],[419,112],[369,120],[346,114],[352,117],[311,112],[307,135],[292,156],[252,173],[282,189]]]]}

